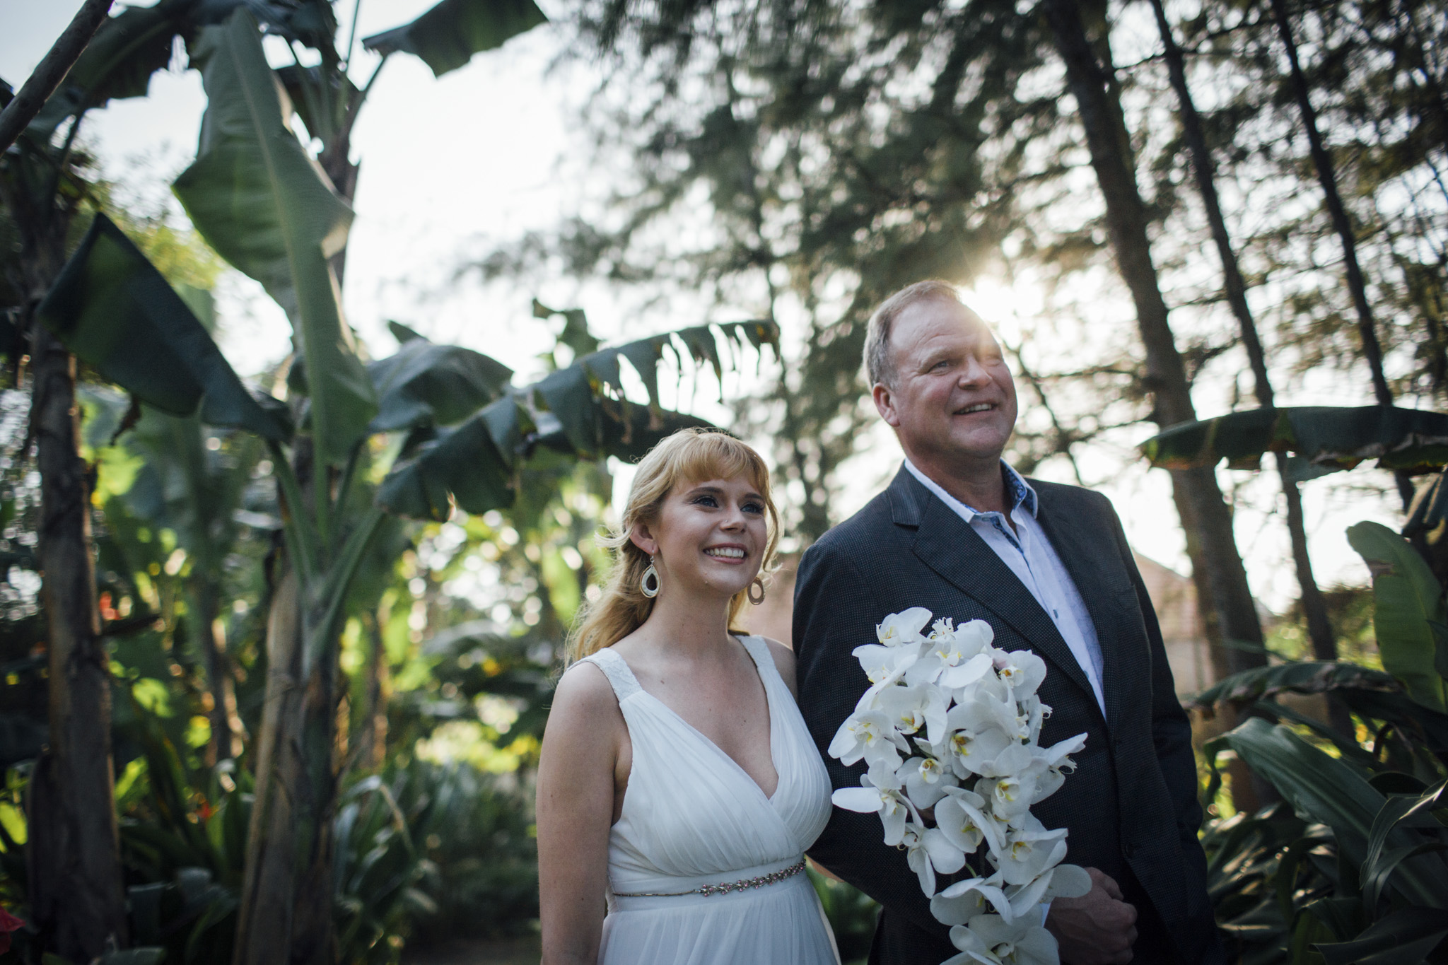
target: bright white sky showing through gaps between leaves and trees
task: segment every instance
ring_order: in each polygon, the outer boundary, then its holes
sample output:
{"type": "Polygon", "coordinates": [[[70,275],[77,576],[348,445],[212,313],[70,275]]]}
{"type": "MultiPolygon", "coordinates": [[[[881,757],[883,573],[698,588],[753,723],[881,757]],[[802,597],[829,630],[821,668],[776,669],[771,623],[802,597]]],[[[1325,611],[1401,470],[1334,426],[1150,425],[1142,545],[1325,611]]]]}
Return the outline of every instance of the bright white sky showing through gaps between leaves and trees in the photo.
{"type": "MultiPolygon", "coordinates": [[[[433,1],[366,0],[358,36],[405,23],[433,1]]],[[[566,12],[562,0],[539,1],[547,13],[566,12]]],[[[78,7],[80,0],[0,0],[0,23],[6,26],[0,32],[0,77],[19,87],[78,7]]],[[[343,36],[350,10],[350,3],[337,4],[343,36]]],[[[487,352],[529,375],[534,356],[552,344],[550,331],[529,313],[533,297],[553,307],[584,305],[595,331],[607,339],[704,321],[686,305],[678,314],[656,310],[640,317],[634,305],[646,292],[585,286],[563,276],[489,286],[471,279],[455,282],[455,269],[468,253],[556,226],[610,174],[589,166],[576,120],[597,75],[588,65],[553,67],[563,42],[563,27],[543,26],[442,80],[414,58],[397,55],[388,61],[353,135],[353,158],[361,158],[362,171],[345,291],[348,318],[374,354],[392,350],[385,323],[395,318],[433,340],[487,352]]],[[[365,78],[375,58],[362,54],[356,64],[365,78]]],[[[198,74],[161,72],[152,80],[149,97],[116,101],[91,113],[85,137],[109,177],[161,195],[169,178],[194,156],[204,107],[198,74]]],[[[258,285],[233,276],[222,295],[222,346],[237,370],[258,372],[285,354],[290,327],[258,285]]],[[[967,298],[1006,333],[1019,330],[1038,304],[1032,292],[990,281],[977,284],[967,298]]],[[[747,317],[750,307],[740,307],[734,315],[715,314],[718,320],[747,317]]],[[[718,398],[711,382],[702,381],[694,411],[723,418],[723,411],[708,402],[718,398]]],[[[747,391],[750,382],[730,376],[728,391],[747,391]]],[[[1197,405],[1203,415],[1225,408],[1203,399],[1197,405]]],[[[1148,427],[1140,427],[1127,441],[1148,434],[1148,427]]],[[[859,457],[860,472],[846,473],[859,482],[847,489],[843,512],[869,499],[898,464],[893,440],[883,433],[876,438],[859,457]]],[[[1124,460],[1118,450],[1082,456],[1087,477],[1102,480],[1099,488],[1116,503],[1134,545],[1184,571],[1166,473],[1147,470],[1140,460],[1124,460]]],[[[1352,476],[1371,472],[1360,469],[1352,476]]],[[[1245,473],[1224,470],[1222,477],[1224,486],[1248,486],[1261,505],[1276,486],[1271,477],[1245,473]]],[[[1348,482],[1347,475],[1337,479],[1348,482]]],[[[1064,476],[1061,480],[1073,482],[1064,476]]],[[[620,479],[620,489],[626,482],[620,479]]],[[[1306,486],[1306,514],[1315,566],[1325,586],[1367,579],[1342,535],[1348,524],[1373,518],[1400,525],[1386,506],[1323,482],[1306,486]]],[[[1239,511],[1238,543],[1254,590],[1268,606],[1281,608],[1296,596],[1280,521],[1254,509],[1239,511]]]]}

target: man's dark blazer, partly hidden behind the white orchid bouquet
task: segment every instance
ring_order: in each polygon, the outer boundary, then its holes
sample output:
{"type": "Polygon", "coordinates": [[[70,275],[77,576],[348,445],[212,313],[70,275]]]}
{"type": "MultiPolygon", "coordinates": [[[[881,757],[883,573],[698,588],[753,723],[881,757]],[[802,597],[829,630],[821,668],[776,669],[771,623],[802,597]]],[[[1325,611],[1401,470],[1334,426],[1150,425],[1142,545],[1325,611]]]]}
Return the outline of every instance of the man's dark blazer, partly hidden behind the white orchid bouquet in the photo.
{"type": "MultiPolygon", "coordinates": [[[[1206,859],[1197,843],[1192,729],[1177,702],[1161,629],[1111,502],[1031,480],[1037,519],[1090,612],[1100,641],[1106,715],[1056,625],[989,545],[906,469],[864,509],[805,551],[795,584],[799,706],[825,754],[869,680],[850,651],[875,642],[886,615],[924,606],[959,624],[983,619],[995,645],[1030,648],[1048,667],[1041,699],[1050,745],[1086,734],[1076,773],[1032,812],[1067,828],[1067,861],[1115,878],[1140,913],[1138,965],[1216,958],[1206,859]]],[[[863,762],[825,754],[835,788],[859,787],[863,762]]],[[[956,953],[930,914],[905,852],[880,820],[834,809],[809,855],[883,909],[870,962],[934,965],[956,953]]],[[[940,887],[944,887],[941,884],[940,887]]]]}

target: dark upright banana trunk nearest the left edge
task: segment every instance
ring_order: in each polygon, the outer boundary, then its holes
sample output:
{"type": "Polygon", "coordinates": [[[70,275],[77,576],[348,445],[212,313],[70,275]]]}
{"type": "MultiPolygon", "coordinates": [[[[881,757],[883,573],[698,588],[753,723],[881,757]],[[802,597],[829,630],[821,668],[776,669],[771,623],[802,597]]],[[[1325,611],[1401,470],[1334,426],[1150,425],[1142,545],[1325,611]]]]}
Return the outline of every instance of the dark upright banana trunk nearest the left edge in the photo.
{"type": "Polygon", "coordinates": [[[39,324],[33,331],[30,420],[41,469],[51,728],[29,794],[30,909],[42,948],[88,962],[109,943],[127,943],[110,757],[110,660],[96,606],[75,359],[39,324]]]}

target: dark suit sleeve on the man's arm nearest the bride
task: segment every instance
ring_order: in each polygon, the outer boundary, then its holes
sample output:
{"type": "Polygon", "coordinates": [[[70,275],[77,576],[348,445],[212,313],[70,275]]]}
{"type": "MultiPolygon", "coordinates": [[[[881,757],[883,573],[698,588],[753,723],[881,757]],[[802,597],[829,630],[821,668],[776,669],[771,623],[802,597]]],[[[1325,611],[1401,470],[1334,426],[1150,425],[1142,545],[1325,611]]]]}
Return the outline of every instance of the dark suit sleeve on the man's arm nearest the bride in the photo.
{"type": "MultiPolygon", "coordinates": [[[[885,615],[872,583],[846,554],[820,544],[805,551],[795,583],[794,616],[799,709],[837,790],[859,787],[864,774],[863,762],[844,767],[827,754],[835,731],[870,686],[850,651],[875,641],[875,625],[885,615]]],[[[876,815],[833,809],[809,856],[892,914],[948,942],[948,929],[931,916],[905,852],[885,845],[876,815]]]]}

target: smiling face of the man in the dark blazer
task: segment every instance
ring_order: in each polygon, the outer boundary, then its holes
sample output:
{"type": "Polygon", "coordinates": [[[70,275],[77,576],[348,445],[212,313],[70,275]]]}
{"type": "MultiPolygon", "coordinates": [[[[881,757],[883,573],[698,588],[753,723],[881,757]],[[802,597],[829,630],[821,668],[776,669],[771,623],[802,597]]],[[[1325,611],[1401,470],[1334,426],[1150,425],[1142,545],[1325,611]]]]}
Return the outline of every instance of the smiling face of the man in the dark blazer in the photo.
{"type": "Polygon", "coordinates": [[[963,305],[915,302],[891,327],[895,386],[875,386],[880,417],[914,460],[999,459],[1015,427],[1015,382],[1001,346],[963,305]]]}

